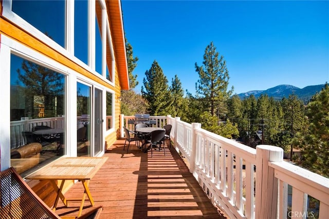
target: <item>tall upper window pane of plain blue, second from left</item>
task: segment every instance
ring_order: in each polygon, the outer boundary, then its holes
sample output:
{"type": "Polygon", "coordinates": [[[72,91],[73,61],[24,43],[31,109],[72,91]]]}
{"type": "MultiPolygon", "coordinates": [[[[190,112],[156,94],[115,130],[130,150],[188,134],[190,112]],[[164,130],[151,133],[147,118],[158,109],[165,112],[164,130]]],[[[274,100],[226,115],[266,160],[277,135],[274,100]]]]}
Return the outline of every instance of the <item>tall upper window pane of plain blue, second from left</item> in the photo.
{"type": "Polygon", "coordinates": [[[88,1],[74,2],[74,54],[88,65],[88,1]]]}

